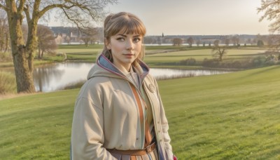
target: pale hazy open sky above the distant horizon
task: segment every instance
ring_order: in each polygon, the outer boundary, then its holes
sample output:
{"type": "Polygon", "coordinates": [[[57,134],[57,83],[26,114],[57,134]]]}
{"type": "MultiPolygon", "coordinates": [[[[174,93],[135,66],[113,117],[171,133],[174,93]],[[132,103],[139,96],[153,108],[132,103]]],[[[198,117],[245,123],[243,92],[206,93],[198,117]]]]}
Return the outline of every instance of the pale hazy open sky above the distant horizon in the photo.
{"type": "Polygon", "coordinates": [[[118,0],[106,10],[137,15],[146,35],[269,34],[258,7],[260,0],[118,0]]]}

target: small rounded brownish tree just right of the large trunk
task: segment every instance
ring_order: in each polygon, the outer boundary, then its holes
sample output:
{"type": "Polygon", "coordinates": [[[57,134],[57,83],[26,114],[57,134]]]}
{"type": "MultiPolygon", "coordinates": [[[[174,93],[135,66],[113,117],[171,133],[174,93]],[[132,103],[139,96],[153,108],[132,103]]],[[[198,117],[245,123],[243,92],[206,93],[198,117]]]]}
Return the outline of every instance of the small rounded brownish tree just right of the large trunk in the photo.
{"type": "Polygon", "coordinates": [[[55,36],[53,36],[52,30],[49,27],[38,25],[37,36],[38,58],[43,58],[43,53],[54,55],[57,49],[57,43],[55,42],[55,36]]]}

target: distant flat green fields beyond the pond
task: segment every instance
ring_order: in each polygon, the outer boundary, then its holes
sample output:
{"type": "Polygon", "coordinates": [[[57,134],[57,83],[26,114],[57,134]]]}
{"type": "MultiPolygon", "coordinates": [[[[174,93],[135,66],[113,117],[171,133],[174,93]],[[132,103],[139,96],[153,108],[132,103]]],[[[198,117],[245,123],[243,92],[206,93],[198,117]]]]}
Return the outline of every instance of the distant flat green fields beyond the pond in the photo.
{"type": "MultiPolygon", "coordinates": [[[[66,53],[67,60],[83,60],[87,62],[95,62],[97,56],[102,51],[102,45],[94,46],[59,46],[57,53],[66,53]]],[[[264,53],[266,50],[263,48],[251,47],[251,48],[229,48],[228,53],[225,56],[226,60],[237,60],[252,58],[264,53]]],[[[181,60],[188,58],[195,58],[200,64],[204,58],[211,59],[210,47],[193,47],[188,46],[146,46],[146,57],[144,61],[150,65],[150,67],[174,67],[174,64],[181,60]]],[[[180,68],[200,68],[200,65],[195,66],[175,66],[180,68]]]]}

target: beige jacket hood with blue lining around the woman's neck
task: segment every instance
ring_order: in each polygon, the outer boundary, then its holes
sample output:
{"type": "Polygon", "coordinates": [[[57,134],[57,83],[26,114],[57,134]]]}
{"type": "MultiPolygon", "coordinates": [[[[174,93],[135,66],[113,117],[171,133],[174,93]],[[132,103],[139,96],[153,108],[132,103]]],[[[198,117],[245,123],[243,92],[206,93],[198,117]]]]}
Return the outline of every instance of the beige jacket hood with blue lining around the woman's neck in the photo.
{"type": "MultiPolygon", "coordinates": [[[[139,62],[139,66],[134,66],[133,69],[137,74],[139,75],[139,79],[143,81],[145,76],[148,74],[150,69],[148,66],[143,62],[139,62]]],[[[125,74],[118,69],[113,63],[108,60],[103,54],[99,55],[97,58],[96,65],[94,65],[90,72],[87,74],[87,79],[91,79],[94,76],[107,76],[107,77],[113,77],[118,79],[127,79],[125,74]]]]}

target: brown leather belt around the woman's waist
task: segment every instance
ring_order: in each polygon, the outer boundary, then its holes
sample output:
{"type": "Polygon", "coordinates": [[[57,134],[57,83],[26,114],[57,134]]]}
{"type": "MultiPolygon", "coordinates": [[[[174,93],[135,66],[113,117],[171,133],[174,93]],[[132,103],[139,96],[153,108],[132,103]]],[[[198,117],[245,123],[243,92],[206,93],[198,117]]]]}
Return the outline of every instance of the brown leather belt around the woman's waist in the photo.
{"type": "Polygon", "coordinates": [[[141,156],[148,154],[149,152],[153,152],[153,149],[155,149],[155,142],[153,142],[152,145],[148,145],[144,149],[135,149],[135,150],[118,150],[118,149],[107,149],[111,153],[115,154],[124,154],[124,155],[130,155],[130,156],[141,156]]]}

